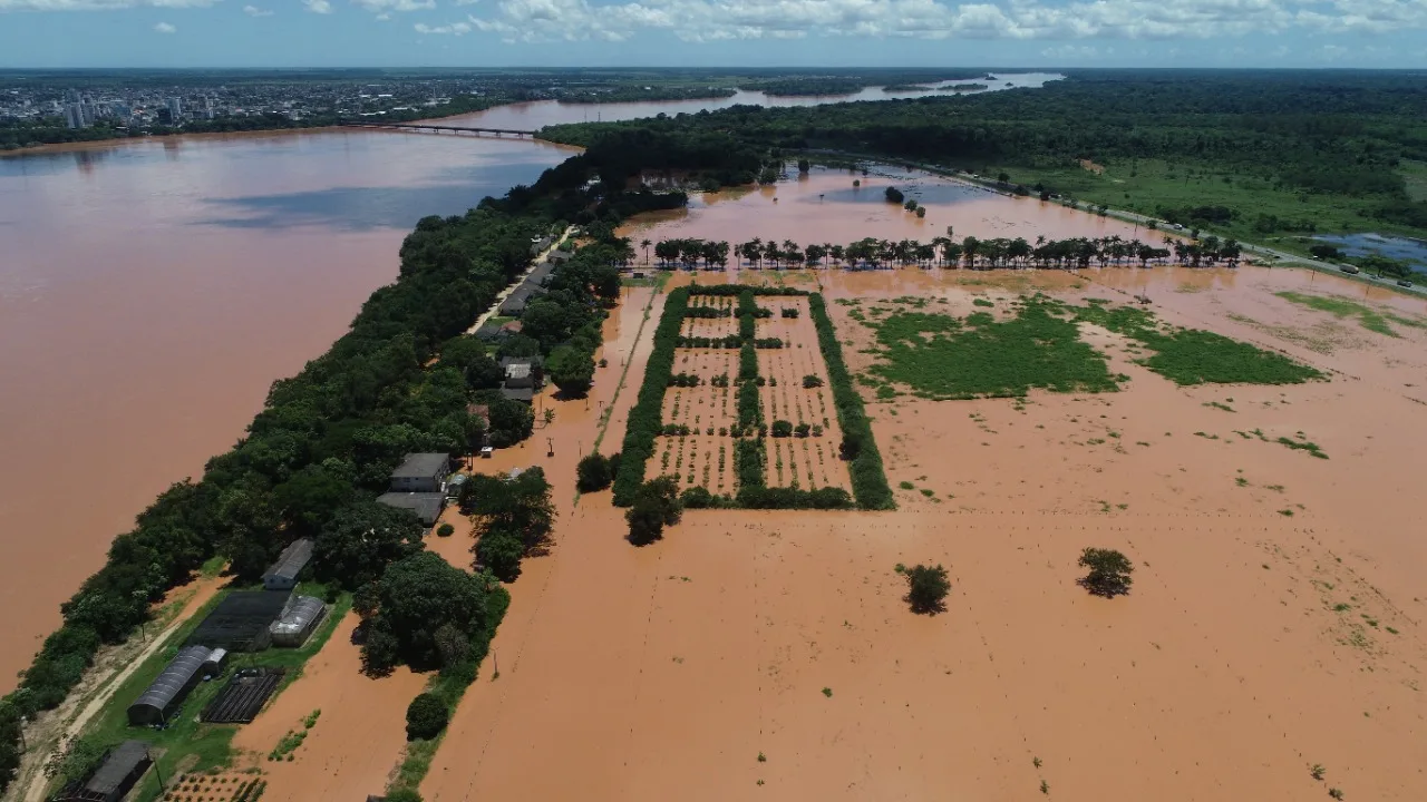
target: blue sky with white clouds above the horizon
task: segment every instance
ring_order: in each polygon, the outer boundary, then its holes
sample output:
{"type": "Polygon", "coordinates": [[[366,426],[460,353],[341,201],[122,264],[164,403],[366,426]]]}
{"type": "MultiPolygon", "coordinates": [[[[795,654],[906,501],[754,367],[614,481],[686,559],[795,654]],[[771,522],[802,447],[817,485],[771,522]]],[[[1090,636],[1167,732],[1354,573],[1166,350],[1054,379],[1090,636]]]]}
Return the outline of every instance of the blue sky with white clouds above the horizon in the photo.
{"type": "Polygon", "coordinates": [[[0,67],[1427,67],[1427,0],[0,0],[0,67]]]}

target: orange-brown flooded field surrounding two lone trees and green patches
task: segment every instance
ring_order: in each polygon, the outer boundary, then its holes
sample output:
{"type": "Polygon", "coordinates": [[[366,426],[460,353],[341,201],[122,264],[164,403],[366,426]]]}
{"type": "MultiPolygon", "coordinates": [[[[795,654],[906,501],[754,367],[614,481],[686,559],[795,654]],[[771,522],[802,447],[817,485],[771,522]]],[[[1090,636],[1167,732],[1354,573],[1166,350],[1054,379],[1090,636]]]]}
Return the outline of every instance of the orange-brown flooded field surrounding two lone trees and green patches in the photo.
{"type": "MultiPolygon", "coordinates": [[[[584,495],[512,587],[501,674],[482,671],[457,711],[428,801],[1023,799],[1042,783],[1083,801],[1427,798],[1427,545],[1408,468],[1427,447],[1427,337],[1280,294],[1427,310],[1251,268],[811,281],[868,380],[899,509],[688,511],[634,548],[606,494],[584,495]],[[940,314],[966,334],[987,323],[968,317],[1013,321],[1036,293],[1110,385],[943,400],[959,394],[879,371],[886,344],[856,320],[940,314]],[[1162,337],[1229,337],[1254,347],[1253,370],[1301,375],[1219,384],[1193,360],[1154,362],[1170,345],[1095,320],[1142,308],[1134,295],[1162,337]],[[1089,545],[1130,555],[1129,597],[1075,585],[1089,545]],[[948,612],[909,612],[893,567],[916,562],[950,569],[948,612]]],[[[1199,337],[1199,352],[1217,344],[1199,337]]],[[[726,351],[688,364],[732,375],[726,351]]],[[[681,404],[722,410],[696,391],[705,404],[681,404]]]]}

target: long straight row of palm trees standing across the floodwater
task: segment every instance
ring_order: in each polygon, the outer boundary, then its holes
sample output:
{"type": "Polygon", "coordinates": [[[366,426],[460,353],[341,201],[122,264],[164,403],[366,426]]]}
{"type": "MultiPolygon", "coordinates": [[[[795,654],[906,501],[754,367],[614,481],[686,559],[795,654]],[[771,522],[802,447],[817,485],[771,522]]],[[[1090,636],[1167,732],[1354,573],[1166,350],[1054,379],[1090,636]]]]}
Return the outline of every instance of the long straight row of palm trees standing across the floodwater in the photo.
{"type": "MultiPolygon", "coordinates": [[[[768,240],[755,237],[746,243],[729,247],[728,243],[708,240],[661,240],[658,244],[644,240],[645,261],[649,261],[649,245],[654,247],[655,257],[661,265],[684,264],[688,268],[699,267],[716,268],[728,265],[729,253],[739,258],[739,264],[746,263],[755,270],[771,267],[772,270],[796,270],[801,267],[823,267],[825,264],[848,264],[853,270],[880,268],[896,264],[920,267],[968,267],[968,268],[999,268],[999,267],[1090,267],[1097,264],[1123,265],[1126,261],[1137,261],[1140,267],[1150,263],[1166,264],[1170,257],[1179,264],[1202,267],[1213,264],[1227,264],[1237,267],[1243,248],[1234,240],[1219,240],[1219,237],[1204,237],[1203,240],[1176,240],[1164,237],[1163,245],[1157,247],[1140,240],[1124,240],[1122,237],[1073,237],[1067,240],[1047,240],[1036,237],[1035,244],[1023,237],[993,240],[979,240],[965,237],[956,241],[950,227],[945,237],[936,237],[930,243],[918,240],[878,240],[866,237],[848,245],[832,243],[811,243],[799,247],[792,240],[768,240]]],[[[631,254],[634,248],[626,248],[631,254]]]]}

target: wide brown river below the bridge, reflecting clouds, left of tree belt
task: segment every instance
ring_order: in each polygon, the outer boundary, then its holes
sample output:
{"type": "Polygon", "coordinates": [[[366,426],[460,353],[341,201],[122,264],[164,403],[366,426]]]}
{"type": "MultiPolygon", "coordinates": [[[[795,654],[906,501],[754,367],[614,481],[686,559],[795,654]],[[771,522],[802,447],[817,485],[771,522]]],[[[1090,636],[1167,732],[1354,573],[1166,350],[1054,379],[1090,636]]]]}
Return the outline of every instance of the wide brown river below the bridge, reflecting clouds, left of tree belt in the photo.
{"type": "Polygon", "coordinates": [[[0,691],[110,539],[395,278],[420,217],[568,153],[321,131],[0,158],[0,691]]]}

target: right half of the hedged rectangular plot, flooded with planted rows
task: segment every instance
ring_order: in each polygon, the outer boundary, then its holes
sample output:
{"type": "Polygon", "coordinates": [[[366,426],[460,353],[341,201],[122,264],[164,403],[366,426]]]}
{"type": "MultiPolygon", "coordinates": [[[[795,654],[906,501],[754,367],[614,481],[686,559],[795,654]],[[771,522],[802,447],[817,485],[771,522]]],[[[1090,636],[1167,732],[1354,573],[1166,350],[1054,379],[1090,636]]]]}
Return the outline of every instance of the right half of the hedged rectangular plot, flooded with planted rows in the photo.
{"type": "Polygon", "coordinates": [[[838,458],[842,431],[818,350],[808,298],[761,298],[773,317],[758,321],[758,338],[778,338],[782,348],[758,350],[759,398],[768,424],[768,487],[852,488],[838,458]],[[796,317],[785,317],[795,310],[796,317]]]}

